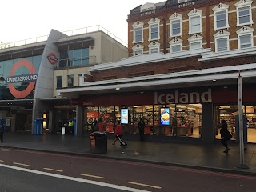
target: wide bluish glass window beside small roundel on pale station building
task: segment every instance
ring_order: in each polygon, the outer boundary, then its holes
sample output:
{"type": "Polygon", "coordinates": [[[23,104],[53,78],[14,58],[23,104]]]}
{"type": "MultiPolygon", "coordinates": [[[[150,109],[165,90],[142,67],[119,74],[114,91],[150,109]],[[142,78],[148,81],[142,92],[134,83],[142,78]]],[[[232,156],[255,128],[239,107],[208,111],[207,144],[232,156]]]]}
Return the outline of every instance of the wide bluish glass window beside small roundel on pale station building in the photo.
{"type": "Polygon", "coordinates": [[[86,66],[89,64],[89,48],[60,52],[59,67],[86,66]]]}

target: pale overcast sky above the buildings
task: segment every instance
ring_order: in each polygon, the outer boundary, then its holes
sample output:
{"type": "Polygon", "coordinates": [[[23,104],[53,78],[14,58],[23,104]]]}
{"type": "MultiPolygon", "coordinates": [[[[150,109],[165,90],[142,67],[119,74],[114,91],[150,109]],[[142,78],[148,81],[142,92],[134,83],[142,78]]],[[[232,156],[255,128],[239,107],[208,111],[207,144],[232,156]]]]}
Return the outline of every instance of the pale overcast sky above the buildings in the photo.
{"type": "Polygon", "coordinates": [[[100,25],[127,43],[130,10],[165,0],[2,0],[0,42],[100,25]]]}

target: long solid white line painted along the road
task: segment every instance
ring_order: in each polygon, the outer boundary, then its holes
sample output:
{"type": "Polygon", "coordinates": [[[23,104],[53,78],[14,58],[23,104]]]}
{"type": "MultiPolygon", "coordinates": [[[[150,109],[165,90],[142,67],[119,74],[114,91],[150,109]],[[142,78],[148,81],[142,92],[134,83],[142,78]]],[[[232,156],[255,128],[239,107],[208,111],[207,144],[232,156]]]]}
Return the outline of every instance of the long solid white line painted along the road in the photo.
{"type": "Polygon", "coordinates": [[[83,179],[83,178],[72,178],[72,177],[60,175],[60,174],[50,174],[50,173],[46,173],[46,172],[39,171],[39,170],[30,170],[30,169],[26,169],[26,168],[22,168],[22,167],[18,167],[18,166],[8,166],[8,165],[4,165],[1,163],[0,163],[0,166],[6,167],[9,169],[13,169],[13,170],[22,170],[22,171],[26,171],[26,172],[29,172],[32,174],[42,174],[42,175],[46,175],[46,176],[50,176],[50,177],[54,177],[54,178],[62,178],[62,179],[66,179],[66,180],[70,180],[70,181],[74,181],[74,182],[84,182],[84,183],[89,183],[89,184],[93,184],[93,185],[97,185],[97,186],[106,186],[106,187],[110,187],[110,188],[117,189],[117,190],[126,190],[126,191],[133,191],[133,192],[150,192],[149,190],[138,190],[138,189],[127,187],[127,186],[117,186],[117,185],[113,185],[113,184],[105,183],[105,182],[94,182],[94,181],[90,181],[90,180],[83,179]]]}

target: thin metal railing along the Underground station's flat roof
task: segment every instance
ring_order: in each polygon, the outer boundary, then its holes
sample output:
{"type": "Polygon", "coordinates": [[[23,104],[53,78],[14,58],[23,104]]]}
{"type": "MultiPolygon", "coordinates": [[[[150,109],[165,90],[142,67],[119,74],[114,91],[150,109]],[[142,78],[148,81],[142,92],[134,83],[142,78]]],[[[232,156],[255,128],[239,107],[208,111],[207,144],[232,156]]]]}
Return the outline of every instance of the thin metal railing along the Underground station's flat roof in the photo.
{"type": "MultiPolygon", "coordinates": [[[[66,30],[62,33],[66,34],[68,36],[73,36],[73,35],[77,35],[77,34],[87,34],[87,33],[97,32],[97,31],[102,31],[102,32],[106,33],[107,35],[109,35],[111,38],[114,38],[114,40],[116,40],[117,42],[120,42],[123,46],[128,46],[126,42],[123,42],[120,38],[118,38],[114,34],[110,33],[109,30],[106,30],[104,27],[102,27],[100,25],[87,26],[87,27],[83,27],[83,28],[79,28],[79,29],[75,29],[75,30],[66,30]]],[[[32,43],[44,42],[44,41],[47,41],[48,36],[49,35],[43,35],[43,36],[39,36],[36,38],[27,38],[27,39],[16,41],[16,42],[0,42],[0,50],[7,49],[10,47],[14,47],[14,46],[25,46],[25,45],[32,44],[32,43]]]]}

